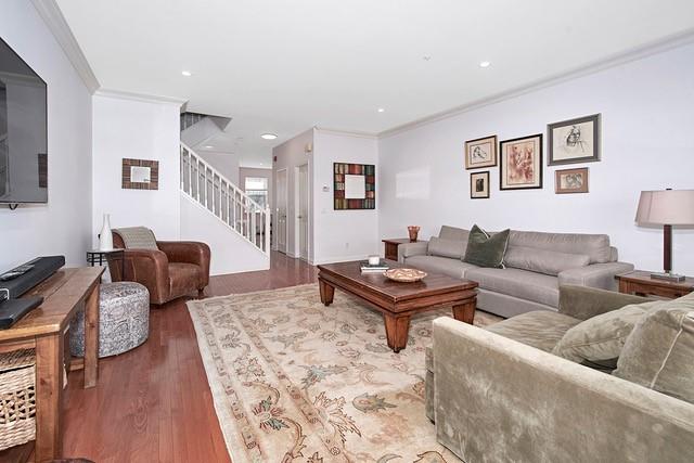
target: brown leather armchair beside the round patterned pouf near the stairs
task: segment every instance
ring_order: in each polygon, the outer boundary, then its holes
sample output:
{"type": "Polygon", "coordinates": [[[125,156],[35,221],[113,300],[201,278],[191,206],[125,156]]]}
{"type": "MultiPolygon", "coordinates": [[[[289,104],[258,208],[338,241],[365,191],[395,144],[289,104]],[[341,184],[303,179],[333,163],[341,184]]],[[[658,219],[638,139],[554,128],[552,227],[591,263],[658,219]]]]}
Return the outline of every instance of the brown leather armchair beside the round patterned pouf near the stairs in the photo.
{"type": "Polygon", "coordinates": [[[127,248],[113,232],[113,245],[125,249],[124,259],[111,259],[113,281],[136,281],[150,291],[151,304],[164,304],[197,290],[203,297],[209,283],[209,246],[187,241],[157,241],[158,249],[127,248]]]}

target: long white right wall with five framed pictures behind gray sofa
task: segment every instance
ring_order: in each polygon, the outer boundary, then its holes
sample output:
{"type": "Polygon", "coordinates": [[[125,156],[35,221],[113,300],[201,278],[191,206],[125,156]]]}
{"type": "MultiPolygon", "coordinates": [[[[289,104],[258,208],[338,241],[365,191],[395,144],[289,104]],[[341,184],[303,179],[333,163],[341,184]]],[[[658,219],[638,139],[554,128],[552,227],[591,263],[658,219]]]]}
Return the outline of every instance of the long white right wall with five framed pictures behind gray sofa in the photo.
{"type": "MultiPolygon", "coordinates": [[[[381,139],[381,236],[407,236],[407,226],[420,224],[428,237],[444,223],[608,233],[621,260],[660,269],[661,231],[638,227],[634,215],[641,190],[694,189],[693,76],[690,44],[381,139]],[[491,198],[470,200],[465,140],[545,133],[549,123],[594,113],[602,113],[602,162],[545,166],[544,188],[530,191],[500,192],[494,167],[491,198]],[[590,193],[554,194],[554,171],[582,166],[590,193]]],[[[674,270],[694,274],[694,230],[676,230],[673,244],[674,270]]]]}

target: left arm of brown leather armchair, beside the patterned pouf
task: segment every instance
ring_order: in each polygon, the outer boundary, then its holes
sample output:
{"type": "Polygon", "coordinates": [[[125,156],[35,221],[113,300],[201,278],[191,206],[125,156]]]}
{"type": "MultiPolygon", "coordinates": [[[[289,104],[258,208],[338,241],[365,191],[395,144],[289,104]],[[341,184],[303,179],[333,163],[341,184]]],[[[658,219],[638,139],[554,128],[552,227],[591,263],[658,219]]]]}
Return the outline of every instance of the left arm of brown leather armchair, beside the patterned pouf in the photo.
{"type": "Polygon", "coordinates": [[[158,249],[125,249],[124,281],[134,281],[146,286],[150,301],[164,303],[169,294],[169,260],[158,249]]]}

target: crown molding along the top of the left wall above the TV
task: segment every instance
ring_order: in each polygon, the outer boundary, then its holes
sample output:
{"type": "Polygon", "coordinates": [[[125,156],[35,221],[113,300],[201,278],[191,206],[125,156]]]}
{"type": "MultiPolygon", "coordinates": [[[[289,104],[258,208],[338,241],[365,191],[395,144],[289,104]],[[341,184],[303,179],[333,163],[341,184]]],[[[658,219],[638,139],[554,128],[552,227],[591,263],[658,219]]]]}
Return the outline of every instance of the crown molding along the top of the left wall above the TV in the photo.
{"type": "Polygon", "coordinates": [[[31,0],[31,3],[34,3],[34,8],[51,30],[53,37],[55,37],[89,92],[93,94],[101,87],[101,83],[99,83],[55,0],[31,0]]]}

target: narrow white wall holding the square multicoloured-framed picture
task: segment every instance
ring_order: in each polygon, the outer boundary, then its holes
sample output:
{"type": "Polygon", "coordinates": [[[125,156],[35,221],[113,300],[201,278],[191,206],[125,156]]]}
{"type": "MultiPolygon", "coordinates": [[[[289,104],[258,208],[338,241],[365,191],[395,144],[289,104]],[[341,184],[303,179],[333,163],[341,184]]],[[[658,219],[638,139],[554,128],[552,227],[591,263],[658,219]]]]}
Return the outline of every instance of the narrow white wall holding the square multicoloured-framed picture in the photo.
{"type": "Polygon", "coordinates": [[[378,170],[378,144],[374,137],[314,130],[313,136],[313,243],[314,263],[363,259],[378,254],[380,181],[376,209],[335,210],[333,163],[373,164],[378,170]],[[329,191],[323,191],[327,187],[329,191]]]}

